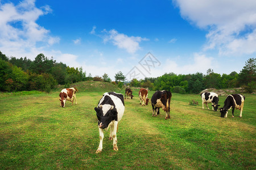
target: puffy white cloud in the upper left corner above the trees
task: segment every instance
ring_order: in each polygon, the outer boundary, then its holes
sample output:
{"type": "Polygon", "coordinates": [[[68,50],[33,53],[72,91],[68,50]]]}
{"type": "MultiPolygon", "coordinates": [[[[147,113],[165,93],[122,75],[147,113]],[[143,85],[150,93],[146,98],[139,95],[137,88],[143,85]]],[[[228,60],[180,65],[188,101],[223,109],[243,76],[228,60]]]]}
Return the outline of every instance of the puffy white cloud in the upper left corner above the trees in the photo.
{"type": "Polygon", "coordinates": [[[2,53],[7,56],[27,56],[34,59],[45,46],[58,43],[59,37],[49,36],[50,31],[36,23],[39,16],[46,15],[51,11],[49,6],[37,8],[34,0],[21,1],[16,6],[11,2],[0,3],[0,48],[2,53]]]}

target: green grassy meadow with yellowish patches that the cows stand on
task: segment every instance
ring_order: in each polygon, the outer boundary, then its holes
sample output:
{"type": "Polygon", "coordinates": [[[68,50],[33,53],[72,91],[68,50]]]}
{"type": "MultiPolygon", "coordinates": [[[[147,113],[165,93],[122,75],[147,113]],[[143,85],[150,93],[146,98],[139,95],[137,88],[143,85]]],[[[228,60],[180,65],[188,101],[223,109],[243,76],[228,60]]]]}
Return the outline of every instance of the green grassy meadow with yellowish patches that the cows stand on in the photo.
{"type": "MultiPolygon", "coordinates": [[[[255,169],[255,101],[246,96],[242,118],[232,111],[202,109],[200,95],[172,94],[171,118],[161,110],[152,117],[151,102],[139,105],[125,100],[119,122],[118,151],[113,151],[109,131],[99,144],[94,107],[102,94],[120,92],[100,82],[76,84],[77,105],[60,107],[59,90],[51,94],[26,92],[0,94],[1,169],[255,169]],[[25,95],[26,94],[26,95],[25,95]],[[191,106],[196,100],[199,105],[191,106]]],[[[151,99],[154,91],[149,92],[151,99]]],[[[220,96],[221,107],[226,96],[220,96]]]]}

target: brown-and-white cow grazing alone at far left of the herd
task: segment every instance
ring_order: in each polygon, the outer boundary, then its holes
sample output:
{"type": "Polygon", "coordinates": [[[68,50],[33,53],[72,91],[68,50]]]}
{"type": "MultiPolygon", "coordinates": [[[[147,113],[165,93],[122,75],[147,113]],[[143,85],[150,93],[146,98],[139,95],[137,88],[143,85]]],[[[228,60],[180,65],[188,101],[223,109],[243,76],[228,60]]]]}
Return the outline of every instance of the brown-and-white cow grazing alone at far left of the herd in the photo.
{"type": "MultiPolygon", "coordinates": [[[[66,101],[71,101],[73,105],[73,100],[76,100],[76,92],[78,92],[76,87],[71,87],[71,88],[64,88],[60,92],[60,106],[65,107],[66,101]]],[[[76,102],[77,104],[77,102],[76,102]]]]}

